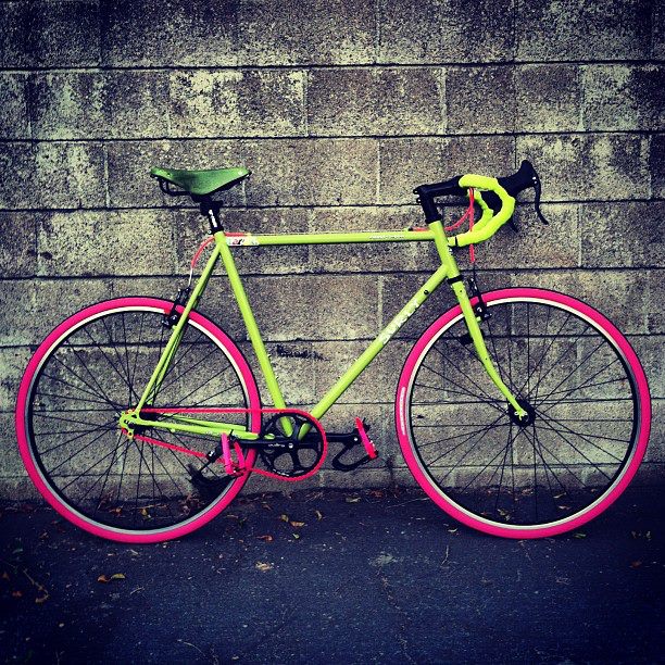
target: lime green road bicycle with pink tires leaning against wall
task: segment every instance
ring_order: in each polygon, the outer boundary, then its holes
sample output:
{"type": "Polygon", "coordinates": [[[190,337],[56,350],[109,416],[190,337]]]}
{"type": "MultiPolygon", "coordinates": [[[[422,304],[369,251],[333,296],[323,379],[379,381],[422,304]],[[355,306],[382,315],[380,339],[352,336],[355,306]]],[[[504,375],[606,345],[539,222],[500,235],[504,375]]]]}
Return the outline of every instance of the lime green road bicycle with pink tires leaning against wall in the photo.
{"type": "MultiPolygon", "coordinates": [[[[515,197],[541,185],[529,162],[513,175],[474,174],[414,192],[426,226],[394,231],[227,233],[218,192],[246,168],[152,168],[163,192],[189,196],[210,224],[174,301],[118,298],[88,306],[39,346],[23,377],[16,431],[47,501],[85,530],[126,542],[184,536],[226,509],[251,473],[297,481],[376,457],[367,426],[326,432],[321,418],[443,283],[457,303],[415,342],[401,372],[396,426],[428,497],[481,531],[509,538],[578,528],[624,491],[649,439],[644,372],[618,329],[589,305],[540,288],[468,290],[453,256],[511,221],[515,197]],[[214,195],[214,197],[213,197],[214,195]],[[442,197],[468,198],[469,229],[448,235],[442,197]],[[478,206],[480,218],[474,225],[478,206]],[[441,265],[321,401],[285,403],[231,248],[435,242],[441,265]],[[192,286],[204,248],[212,253],[192,286]],[[197,312],[222,260],[273,400],[263,407],[238,346],[197,312]],[[490,354],[491,350],[491,354],[490,354]],[[361,457],[350,456],[360,450],[361,457]]],[[[301,314],[302,315],[302,314],[301,314]]]]}

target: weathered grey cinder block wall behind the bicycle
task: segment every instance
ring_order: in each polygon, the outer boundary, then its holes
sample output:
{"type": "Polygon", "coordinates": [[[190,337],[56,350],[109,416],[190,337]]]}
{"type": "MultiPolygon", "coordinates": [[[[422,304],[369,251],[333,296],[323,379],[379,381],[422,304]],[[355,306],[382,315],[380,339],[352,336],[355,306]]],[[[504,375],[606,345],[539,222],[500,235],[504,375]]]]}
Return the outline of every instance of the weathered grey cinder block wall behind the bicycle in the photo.
{"type": "MultiPolygon", "coordinates": [[[[662,480],[663,13],[648,0],[1,2],[0,492],[25,487],[11,412],[34,346],[97,299],[172,296],[205,234],[150,166],[247,166],[227,228],[303,231],[403,228],[421,218],[414,186],[525,158],[552,223],[520,206],[518,235],[478,248],[482,284],[576,293],[629,334],[656,414],[638,480],[662,480]]],[[[308,405],[436,256],[298,248],[240,263],[286,396],[308,405]]],[[[366,416],[387,463],[317,484],[409,481],[394,387],[406,338],[450,302],[432,299],[326,418],[366,416]]],[[[242,337],[224,278],[204,310],[242,337]]]]}

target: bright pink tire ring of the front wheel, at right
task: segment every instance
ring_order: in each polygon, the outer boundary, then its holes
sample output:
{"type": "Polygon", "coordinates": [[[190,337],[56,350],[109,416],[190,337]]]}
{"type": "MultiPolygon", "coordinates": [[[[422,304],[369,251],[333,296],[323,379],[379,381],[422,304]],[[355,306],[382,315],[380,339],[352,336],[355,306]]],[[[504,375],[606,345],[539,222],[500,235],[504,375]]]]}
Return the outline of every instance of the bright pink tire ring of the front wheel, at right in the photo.
{"type": "MultiPolygon", "coordinates": [[[[487,303],[491,303],[497,300],[504,300],[507,298],[544,300],[545,302],[549,301],[557,303],[564,305],[565,308],[579,312],[585,317],[593,322],[598,327],[602,328],[604,332],[606,332],[607,336],[614,341],[616,347],[624,355],[626,363],[629,365],[630,371],[633,374],[635,381],[637,385],[638,397],[640,401],[639,405],[641,412],[641,421],[635,453],[628,466],[624,469],[624,474],[622,475],[619,481],[616,482],[610,489],[610,491],[602,497],[600,501],[592,504],[592,507],[590,510],[587,510],[577,516],[573,516],[572,518],[565,522],[552,524],[549,526],[524,528],[504,527],[493,523],[485,522],[480,518],[473,517],[468,513],[462,511],[456,504],[452,502],[452,500],[446,498],[440,492],[440,490],[438,490],[438,488],[434,486],[432,481],[428,479],[428,477],[424,473],[411,446],[409,431],[410,425],[407,423],[407,402],[410,398],[411,377],[418,365],[418,361],[421,359],[422,353],[425,349],[428,348],[428,344],[430,343],[432,338],[437,336],[437,334],[441,330],[442,327],[444,327],[451,321],[460,316],[460,314],[462,313],[460,305],[450,309],[437,321],[435,321],[431,326],[429,326],[429,328],[418,339],[418,341],[411,350],[409,356],[406,357],[404,368],[402,369],[402,374],[400,375],[400,380],[398,382],[394,414],[396,426],[402,454],[404,455],[404,460],[414,478],[416,479],[418,485],[425,490],[427,495],[440,509],[446,511],[446,513],[448,513],[451,517],[454,517],[466,526],[484,531],[486,534],[491,534],[492,536],[517,539],[545,538],[549,536],[555,536],[557,534],[563,534],[565,531],[579,528],[581,525],[593,519],[603,511],[605,511],[626,489],[644,456],[647,443],[649,441],[649,432],[651,429],[651,400],[649,397],[649,385],[647,382],[647,377],[644,375],[642,365],[628,340],[624,337],[624,335],[622,335],[622,332],[619,332],[619,330],[610,319],[603,316],[600,312],[595,311],[593,308],[585,304],[584,302],[580,302],[579,300],[570,298],[569,296],[565,296],[556,291],[538,288],[509,288],[490,291],[484,294],[484,300],[487,303]]],[[[475,300],[472,300],[472,303],[475,304],[475,300]]]]}

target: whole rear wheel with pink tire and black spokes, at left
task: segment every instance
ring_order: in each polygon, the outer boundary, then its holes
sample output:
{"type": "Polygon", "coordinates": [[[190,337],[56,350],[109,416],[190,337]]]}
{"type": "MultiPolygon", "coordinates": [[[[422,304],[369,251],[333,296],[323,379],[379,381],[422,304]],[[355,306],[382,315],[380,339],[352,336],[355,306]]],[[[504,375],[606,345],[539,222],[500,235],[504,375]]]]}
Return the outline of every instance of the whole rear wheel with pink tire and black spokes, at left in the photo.
{"type": "MultiPolygon", "coordinates": [[[[162,322],[171,306],[122,298],[86,308],[47,337],[21,384],[16,432],[26,469],[61,515],[97,536],[126,542],[184,536],[223,511],[247,479],[230,478],[218,462],[203,468],[205,459],[186,452],[209,452],[216,444],[210,437],[143,430],[164,443],[156,446],[118,429],[121,413],[137,404],[168,340],[162,322]]],[[[238,348],[196,312],[151,403],[260,407],[238,348]]],[[[260,427],[246,413],[224,414],[224,421],[260,427]]],[[[254,457],[248,451],[249,466],[254,457]]]]}

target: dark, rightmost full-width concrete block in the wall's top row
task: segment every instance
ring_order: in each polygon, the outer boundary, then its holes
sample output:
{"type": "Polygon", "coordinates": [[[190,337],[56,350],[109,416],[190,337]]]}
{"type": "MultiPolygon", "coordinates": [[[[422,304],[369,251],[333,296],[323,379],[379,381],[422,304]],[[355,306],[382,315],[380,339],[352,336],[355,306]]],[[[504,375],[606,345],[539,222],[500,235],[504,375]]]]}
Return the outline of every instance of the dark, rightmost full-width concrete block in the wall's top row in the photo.
{"type": "Polygon", "coordinates": [[[593,61],[649,58],[651,12],[643,0],[519,2],[518,60],[593,61]]]}

